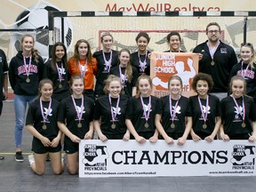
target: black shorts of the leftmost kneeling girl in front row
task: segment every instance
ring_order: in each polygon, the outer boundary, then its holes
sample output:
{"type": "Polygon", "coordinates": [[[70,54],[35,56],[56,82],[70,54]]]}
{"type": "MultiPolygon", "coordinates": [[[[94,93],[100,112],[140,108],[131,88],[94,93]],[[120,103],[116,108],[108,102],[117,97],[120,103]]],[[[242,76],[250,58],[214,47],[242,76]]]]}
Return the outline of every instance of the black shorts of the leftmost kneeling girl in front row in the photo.
{"type": "Polygon", "coordinates": [[[56,153],[56,152],[59,152],[60,150],[61,150],[61,144],[60,143],[56,148],[44,147],[41,140],[38,140],[37,138],[33,138],[32,151],[34,151],[36,154],[45,154],[45,153],[48,153],[48,152],[49,153],[56,153]]]}

